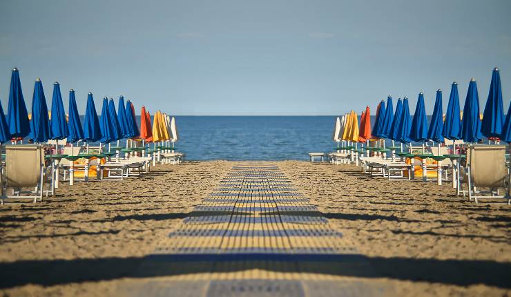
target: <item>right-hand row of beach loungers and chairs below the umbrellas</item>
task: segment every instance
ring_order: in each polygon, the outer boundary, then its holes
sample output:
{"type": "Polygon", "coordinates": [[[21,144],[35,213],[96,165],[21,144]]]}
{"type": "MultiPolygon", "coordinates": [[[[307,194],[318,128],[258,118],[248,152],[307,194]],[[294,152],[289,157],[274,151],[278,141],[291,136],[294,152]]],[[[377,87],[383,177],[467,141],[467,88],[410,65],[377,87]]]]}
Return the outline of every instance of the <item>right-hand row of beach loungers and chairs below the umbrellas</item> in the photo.
{"type": "MultiPolygon", "coordinates": [[[[422,150],[422,147],[416,150],[422,150]]],[[[330,153],[332,164],[360,164],[361,170],[369,176],[383,176],[389,180],[412,180],[421,178],[430,180],[428,171],[436,171],[434,180],[438,184],[452,181],[457,195],[468,196],[470,201],[496,200],[503,198],[511,203],[511,172],[508,146],[502,145],[470,145],[463,146],[464,155],[450,155],[447,147],[431,147],[429,153],[394,153],[388,148],[369,148],[369,153],[354,148],[340,148],[338,152],[330,153]],[[387,153],[392,152],[392,157],[387,153]],[[415,176],[414,160],[421,159],[422,177],[415,176]],[[431,158],[436,164],[427,164],[431,158]],[[406,162],[408,160],[408,162],[406,162]],[[412,162],[410,162],[412,160],[412,162]],[[502,192],[503,190],[503,192],[502,192]],[[503,193],[503,194],[502,194],[503,193]]],[[[412,148],[413,150],[413,148],[412,148]]],[[[415,160],[417,162],[417,160],[415,160]]]]}

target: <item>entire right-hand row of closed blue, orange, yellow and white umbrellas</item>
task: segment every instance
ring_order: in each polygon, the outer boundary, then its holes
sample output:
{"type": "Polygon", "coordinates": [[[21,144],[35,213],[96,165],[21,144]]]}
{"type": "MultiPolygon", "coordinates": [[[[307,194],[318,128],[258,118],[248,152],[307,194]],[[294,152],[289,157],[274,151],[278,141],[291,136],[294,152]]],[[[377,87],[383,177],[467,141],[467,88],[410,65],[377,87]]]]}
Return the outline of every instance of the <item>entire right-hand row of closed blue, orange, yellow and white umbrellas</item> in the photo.
{"type": "Polygon", "coordinates": [[[394,111],[392,97],[387,97],[387,104],[382,100],[376,108],[374,126],[371,128],[369,106],[360,117],[354,111],[336,119],[334,135],[336,142],[348,140],[365,142],[371,138],[389,139],[408,144],[410,142],[443,142],[448,140],[463,140],[464,142],[479,142],[484,137],[489,140],[511,142],[511,104],[504,118],[499,69],[494,68],[490,92],[486,102],[483,117],[479,111],[479,95],[474,78],[470,80],[463,112],[460,112],[458,84],[452,83],[447,113],[443,115],[442,91],[436,91],[431,122],[428,124],[424,94],[418,94],[418,100],[412,117],[409,112],[407,97],[398,99],[394,111]]]}

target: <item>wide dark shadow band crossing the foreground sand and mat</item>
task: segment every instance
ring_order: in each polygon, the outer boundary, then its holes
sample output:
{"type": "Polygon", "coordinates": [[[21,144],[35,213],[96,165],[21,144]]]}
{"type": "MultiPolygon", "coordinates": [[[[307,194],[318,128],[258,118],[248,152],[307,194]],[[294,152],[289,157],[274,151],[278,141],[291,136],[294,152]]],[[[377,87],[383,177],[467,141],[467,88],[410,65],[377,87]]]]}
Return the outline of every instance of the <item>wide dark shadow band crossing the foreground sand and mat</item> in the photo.
{"type": "Polygon", "coordinates": [[[191,254],[143,258],[77,260],[19,260],[0,263],[0,288],[28,284],[64,285],[72,282],[148,278],[211,271],[264,269],[302,271],[362,278],[392,278],[447,285],[484,284],[511,288],[511,263],[488,260],[381,258],[345,254],[191,254]],[[242,265],[240,265],[240,262],[242,265]],[[284,263],[284,264],[283,264],[284,263]],[[287,263],[287,264],[285,264],[287,263]]]}

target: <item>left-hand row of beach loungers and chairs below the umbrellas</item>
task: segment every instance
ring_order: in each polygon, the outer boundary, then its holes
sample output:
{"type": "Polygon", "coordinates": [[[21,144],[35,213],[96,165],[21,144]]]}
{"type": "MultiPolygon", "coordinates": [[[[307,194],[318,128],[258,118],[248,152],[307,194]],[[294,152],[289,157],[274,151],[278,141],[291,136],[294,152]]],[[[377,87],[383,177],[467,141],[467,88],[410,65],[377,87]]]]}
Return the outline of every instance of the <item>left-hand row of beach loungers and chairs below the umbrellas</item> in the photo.
{"type": "MultiPolygon", "coordinates": [[[[89,180],[90,166],[96,166],[97,180],[124,180],[129,176],[142,176],[156,162],[179,164],[184,155],[171,148],[122,148],[116,153],[83,153],[81,147],[65,147],[62,155],[45,155],[41,145],[3,146],[6,154],[0,168],[1,204],[5,200],[42,201],[44,195],[54,195],[59,182],[89,180]],[[124,153],[124,157],[121,157],[124,153]],[[145,156],[144,156],[145,155],[145,156]],[[75,164],[83,159],[84,164],[75,164]],[[75,173],[81,172],[83,178],[75,173]]],[[[95,148],[89,148],[90,152],[95,148]]]]}

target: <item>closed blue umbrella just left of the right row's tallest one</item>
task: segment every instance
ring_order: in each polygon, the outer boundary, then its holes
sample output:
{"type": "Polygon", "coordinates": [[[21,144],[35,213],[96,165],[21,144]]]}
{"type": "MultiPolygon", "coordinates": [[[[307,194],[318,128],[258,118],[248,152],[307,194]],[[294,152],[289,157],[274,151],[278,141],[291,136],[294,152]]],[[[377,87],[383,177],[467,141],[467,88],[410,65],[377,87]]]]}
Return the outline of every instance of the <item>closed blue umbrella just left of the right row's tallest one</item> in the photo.
{"type": "Polygon", "coordinates": [[[468,85],[465,106],[463,107],[463,122],[461,123],[461,139],[465,142],[481,140],[481,121],[479,120],[479,95],[477,94],[476,79],[472,78],[468,85]]]}

